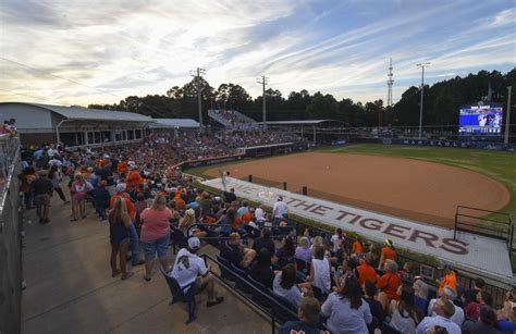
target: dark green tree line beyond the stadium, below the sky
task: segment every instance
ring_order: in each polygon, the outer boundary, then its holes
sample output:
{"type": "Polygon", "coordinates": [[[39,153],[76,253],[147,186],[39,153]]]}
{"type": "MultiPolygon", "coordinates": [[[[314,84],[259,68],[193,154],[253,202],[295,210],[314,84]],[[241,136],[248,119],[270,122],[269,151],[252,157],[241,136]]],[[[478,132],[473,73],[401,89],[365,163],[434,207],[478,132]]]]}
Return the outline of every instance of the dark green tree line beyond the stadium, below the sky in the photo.
{"type": "MultiPolygon", "coordinates": [[[[516,67],[506,74],[499,71],[480,71],[465,77],[456,76],[431,86],[426,85],[425,125],[457,125],[459,107],[486,101],[488,95],[491,96],[492,102],[503,103],[505,110],[506,87],[511,85],[516,90],[516,67]]],[[[244,87],[232,83],[221,84],[216,89],[202,77],[194,77],[183,87],[174,86],[164,95],[130,96],[120,103],[89,104],[88,108],[130,111],[156,119],[197,120],[197,86],[200,86],[202,91],[205,122],[208,120],[208,109],[237,110],[258,122],[261,121],[261,96],[253,98],[244,87]]],[[[384,126],[417,126],[419,99],[420,89],[416,86],[406,89],[394,106],[386,108],[382,99],[361,103],[348,98],[337,100],[331,94],[321,91],[310,95],[306,89],[291,91],[284,97],[280,90],[269,88],[266,90],[267,120],[331,119],[343,121],[349,126],[378,126],[379,119],[382,119],[384,126]]],[[[513,108],[513,111],[514,109],[516,108],[513,108]]],[[[512,117],[516,120],[516,113],[512,112],[512,117]]]]}

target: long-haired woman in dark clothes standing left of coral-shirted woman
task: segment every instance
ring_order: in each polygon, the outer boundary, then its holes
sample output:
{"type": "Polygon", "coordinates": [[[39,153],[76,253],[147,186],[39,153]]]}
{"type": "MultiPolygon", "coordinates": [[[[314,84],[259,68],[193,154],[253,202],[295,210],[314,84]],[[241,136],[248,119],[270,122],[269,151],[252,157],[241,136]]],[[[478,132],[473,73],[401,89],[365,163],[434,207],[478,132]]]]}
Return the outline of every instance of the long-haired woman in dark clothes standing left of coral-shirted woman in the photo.
{"type": "Polygon", "coordinates": [[[126,280],[133,275],[127,272],[127,250],[130,244],[128,225],[131,225],[131,218],[127,213],[125,201],[118,198],[114,201],[114,208],[109,213],[109,239],[111,243],[111,277],[122,273],[122,280],[126,280]],[[116,256],[120,258],[120,270],[116,268],[116,256]]]}

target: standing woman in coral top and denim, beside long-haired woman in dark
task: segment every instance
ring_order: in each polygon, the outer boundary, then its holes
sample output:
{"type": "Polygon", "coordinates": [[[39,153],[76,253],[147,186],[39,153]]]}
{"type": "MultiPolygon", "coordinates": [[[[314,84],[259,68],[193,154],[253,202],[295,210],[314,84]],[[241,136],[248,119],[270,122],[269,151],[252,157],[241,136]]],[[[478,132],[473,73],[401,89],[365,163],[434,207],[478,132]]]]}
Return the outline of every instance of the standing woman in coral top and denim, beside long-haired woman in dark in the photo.
{"type": "Polygon", "coordinates": [[[158,260],[163,269],[169,268],[167,258],[170,242],[170,223],[172,212],[167,208],[167,199],[156,196],[150,208],[139,215],[142,221],[142,242],[145,243],[145,281],[150,281],[152,263],[158,253],[158,260]]]}

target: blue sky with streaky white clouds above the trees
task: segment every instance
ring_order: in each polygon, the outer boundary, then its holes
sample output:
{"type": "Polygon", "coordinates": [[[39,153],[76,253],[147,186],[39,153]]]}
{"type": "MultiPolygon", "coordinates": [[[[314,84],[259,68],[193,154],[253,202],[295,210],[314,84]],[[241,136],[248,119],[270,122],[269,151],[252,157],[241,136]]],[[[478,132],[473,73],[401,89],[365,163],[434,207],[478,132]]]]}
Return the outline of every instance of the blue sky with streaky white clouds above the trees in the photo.
{"type": "Polygon", "coordinates": [[[163,95],[196,67],[261,94],[393,99],[516,65],[513,0],[1,0],[0,101],[115,103],[163,95]]]}

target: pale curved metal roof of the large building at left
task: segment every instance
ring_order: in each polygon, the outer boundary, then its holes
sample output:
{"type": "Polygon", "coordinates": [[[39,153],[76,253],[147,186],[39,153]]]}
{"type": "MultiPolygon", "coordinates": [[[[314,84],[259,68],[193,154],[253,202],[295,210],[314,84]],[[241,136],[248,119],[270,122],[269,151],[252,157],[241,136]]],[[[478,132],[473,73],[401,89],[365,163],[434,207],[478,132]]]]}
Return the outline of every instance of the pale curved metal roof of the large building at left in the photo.
{"type": "MultiPolygon", "coordinates": [[[[38,104],[38,103],[25,103],[25,102],[4,102],[14,104],[28,104],[42,109],[50,110],[67,120],[93,120],[93,121],[126,121],[126,122],[155,122],[151,117],[125,111],[112,111],[101,109],[88,109],[83,107],[62,107],[52,104],[38,104]]],[[[3,104],[3,103],[0,103],[3,104]]]]}

